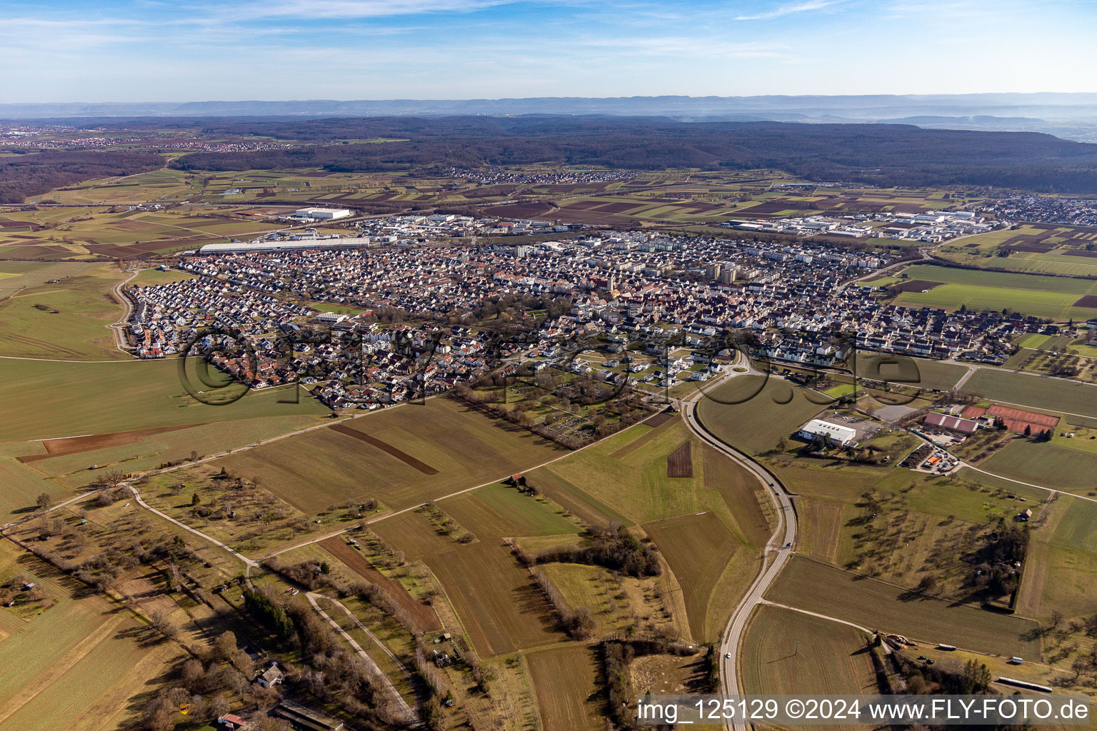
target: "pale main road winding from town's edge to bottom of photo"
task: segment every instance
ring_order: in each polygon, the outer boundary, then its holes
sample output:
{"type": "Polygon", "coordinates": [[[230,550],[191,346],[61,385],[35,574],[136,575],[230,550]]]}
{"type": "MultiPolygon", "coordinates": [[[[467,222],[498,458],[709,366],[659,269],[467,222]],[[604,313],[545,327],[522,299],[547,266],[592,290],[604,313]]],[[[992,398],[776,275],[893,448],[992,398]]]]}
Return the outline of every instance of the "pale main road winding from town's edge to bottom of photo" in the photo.
{"type": "MultiPolygon", "coordinates": [[[[686,420],[689,430],[702,442],[730,459],[734,459],[758,478],[766,489],[766,493],[773,502],[773,506],[777,509],[777,528],[766,545],[762,569],[755,578],[754,583],[750,584],[750,589],[747,590],[746,595],[732,613],[732,617],[727,621],[727,628],[724,630],[724,637],[720,642],[720,653],[722,655],[720,669],[721,690],[725,695],[737,695],[739,693],[739,644],[750,615],[754,613],[754,608],[766,603],[762,594],[766,593],[766,590],[769,589],[778,574],[781,573],[785,561],[792,555],[792,546],[795,545],[796,540],[796,513],[792,507],[792,501],[789,499],[788,491],[776,476],[771,475],[765,467],[738,449],[717,439],[704,427],[697,418],[697,404],[702,398],[704,398],[704,393],[698,392],[690,400],[681,402],[682,418],[686,420]]],[[[746,731],[748,726],[742,721],[730,721],[727,728],[735,731],[746,731]]]]}

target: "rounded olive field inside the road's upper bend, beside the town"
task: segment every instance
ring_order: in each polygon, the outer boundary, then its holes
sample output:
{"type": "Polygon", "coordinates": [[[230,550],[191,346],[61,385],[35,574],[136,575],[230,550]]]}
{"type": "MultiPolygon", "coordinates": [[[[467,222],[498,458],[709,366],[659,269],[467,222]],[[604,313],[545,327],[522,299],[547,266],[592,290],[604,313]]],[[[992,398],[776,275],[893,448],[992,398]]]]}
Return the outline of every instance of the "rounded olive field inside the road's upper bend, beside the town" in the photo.
{"type": "MultiPolygon", "coordinates": [[[[824,397],[813,398],[818,401],[824,397]]],[[[808,401],[802,389],[784,380],[737,376],[702,398],[697,415],[721,441],[757,454],[777,447],[825,408],[808,401]]]]}

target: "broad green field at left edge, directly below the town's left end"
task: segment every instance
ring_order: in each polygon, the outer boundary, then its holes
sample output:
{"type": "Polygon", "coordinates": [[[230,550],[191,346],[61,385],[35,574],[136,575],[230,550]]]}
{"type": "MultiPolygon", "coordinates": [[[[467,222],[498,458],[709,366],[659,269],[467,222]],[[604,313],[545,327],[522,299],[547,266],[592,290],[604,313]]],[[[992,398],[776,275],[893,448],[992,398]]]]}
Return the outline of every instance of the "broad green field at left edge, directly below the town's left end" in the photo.
{"type": "Polygon", "coordinates": [[[0,441],[329,413],[327,407],[305,391],[298,403],[279,403],[293,398],[293,393],[292,387],[267,389],[225,406],[207,406],[186,395],[179,380],[179,362],[174,359],[118,363],[0,359],[0,400],[11,414],[0,423],[0,441]]]}

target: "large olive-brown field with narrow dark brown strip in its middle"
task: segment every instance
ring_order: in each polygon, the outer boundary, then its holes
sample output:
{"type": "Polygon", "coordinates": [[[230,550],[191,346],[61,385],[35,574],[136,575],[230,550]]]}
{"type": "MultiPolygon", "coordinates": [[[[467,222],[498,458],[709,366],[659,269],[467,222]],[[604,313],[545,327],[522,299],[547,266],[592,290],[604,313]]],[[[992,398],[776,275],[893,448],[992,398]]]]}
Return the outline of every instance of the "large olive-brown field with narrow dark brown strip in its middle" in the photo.
{"type": "Polygon", "coordinates": [[[567,454],[446,398],[335,426],[229,455],[215,465],[259,476],[264,489],[304,513],[316,513],[364,498],[396,510],[410,507],[567,454]]]}

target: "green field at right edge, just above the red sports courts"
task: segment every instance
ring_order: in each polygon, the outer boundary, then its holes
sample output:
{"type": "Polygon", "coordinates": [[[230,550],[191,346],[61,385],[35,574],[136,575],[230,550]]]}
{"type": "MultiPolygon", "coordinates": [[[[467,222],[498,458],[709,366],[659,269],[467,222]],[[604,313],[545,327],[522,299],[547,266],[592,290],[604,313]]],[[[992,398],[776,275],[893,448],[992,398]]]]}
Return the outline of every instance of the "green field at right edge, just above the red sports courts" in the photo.
{"type": "Polygon", "coordinates": [[[991,401],[1097,418],[1097,386],[980,368],[960,388],[991,401]]]}

